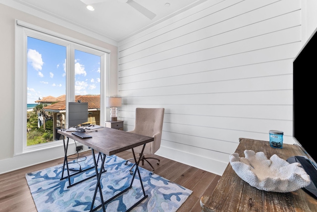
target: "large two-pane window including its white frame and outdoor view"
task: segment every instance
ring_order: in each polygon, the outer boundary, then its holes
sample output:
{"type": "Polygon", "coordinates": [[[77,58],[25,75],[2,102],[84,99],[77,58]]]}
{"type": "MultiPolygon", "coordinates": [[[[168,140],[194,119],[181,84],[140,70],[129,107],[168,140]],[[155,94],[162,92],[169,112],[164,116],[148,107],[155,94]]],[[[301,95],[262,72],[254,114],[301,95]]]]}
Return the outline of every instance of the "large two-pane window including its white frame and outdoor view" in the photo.
{"type": "Polygon", "coordinates": [[[15,154],[61,145],[68,102],[88,102],[83,125],[103,125],[109,51],[17,23],[15,154]]]}

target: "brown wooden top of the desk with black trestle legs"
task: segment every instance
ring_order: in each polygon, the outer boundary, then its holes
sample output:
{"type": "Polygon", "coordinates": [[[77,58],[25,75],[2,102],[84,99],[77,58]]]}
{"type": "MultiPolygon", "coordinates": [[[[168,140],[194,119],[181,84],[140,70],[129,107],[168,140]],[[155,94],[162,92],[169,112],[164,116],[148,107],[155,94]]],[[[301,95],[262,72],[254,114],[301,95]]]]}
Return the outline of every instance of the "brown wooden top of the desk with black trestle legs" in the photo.
{"type": "Polygon", "coordinates": [[[69,131],[58,130],[57,132],[106,155],[116,154],[118,152],[154,141],[153,137],[142,136],[112,128],[98,128],[97,132],[86,131],[85,134],[93,137],[88,139],[79,138],[78,136],[71,134],[72,132],[69,131]]]}

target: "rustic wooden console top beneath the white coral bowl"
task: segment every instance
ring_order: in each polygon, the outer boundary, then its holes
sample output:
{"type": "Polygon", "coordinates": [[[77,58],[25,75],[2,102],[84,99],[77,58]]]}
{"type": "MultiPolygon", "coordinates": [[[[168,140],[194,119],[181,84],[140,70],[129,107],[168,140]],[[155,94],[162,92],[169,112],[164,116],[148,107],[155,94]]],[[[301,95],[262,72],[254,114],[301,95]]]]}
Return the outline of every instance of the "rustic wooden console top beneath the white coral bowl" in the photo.
{"type": "MultiPolygon", "coordinates": [[[[268,141],[239,139],[235,152],[244,157],[244,150],[263,151],[267,158],[277,154],[282,159],[304,155],[291,144],[272,148],[268,141]]],[[[299,189],[289,193],[265,192],[250,186],[232,169],[230,163],[223,172],[211,196],[201,197],[202,212],[317,212],[317,200],[299,189]]]]}

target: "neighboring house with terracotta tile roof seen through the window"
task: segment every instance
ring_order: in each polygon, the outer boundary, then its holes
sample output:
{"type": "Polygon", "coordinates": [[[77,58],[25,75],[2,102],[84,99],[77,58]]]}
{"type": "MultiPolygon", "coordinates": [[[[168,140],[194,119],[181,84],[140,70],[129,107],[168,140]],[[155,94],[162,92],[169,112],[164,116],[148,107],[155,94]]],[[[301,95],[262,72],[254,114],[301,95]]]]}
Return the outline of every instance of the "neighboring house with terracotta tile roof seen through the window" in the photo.
{"type": "MultiPolygon", "coordinates": [[[[43,99],[44,101],[48,100],[46,98],[43,99]]],[[[55,140],[59,140],[60,135],[57,134],[57,130],[65,127],[65,95],[59,96],[55,99],[60,99],[60,101],[54,104],[50,104],[44,107],[44,109],[48,112],[53,113],[53,138],[55,140]]],[[[100,125],[100,95],[76,95],[75,102],[78,101],[88,102],[88,120],[86,123],[83,123],[82,125],[100,125]]]]}

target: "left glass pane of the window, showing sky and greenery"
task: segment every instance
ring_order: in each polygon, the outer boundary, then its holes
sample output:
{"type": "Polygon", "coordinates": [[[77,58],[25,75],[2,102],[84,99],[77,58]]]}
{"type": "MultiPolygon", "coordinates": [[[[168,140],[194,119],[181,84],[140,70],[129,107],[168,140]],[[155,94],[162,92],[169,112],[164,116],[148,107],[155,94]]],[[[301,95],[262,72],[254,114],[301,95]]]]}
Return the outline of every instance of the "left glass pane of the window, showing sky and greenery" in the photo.
{"type": "Polygon", "coordinates": [[[57,140],[66,108],[47,110],[66,96],[66,46],[27,36],[27,146],[57,140]],[[55,121],[58,119],[59,122],[55,121]],[[59,125],[57,125],[59,124],[59,125]]]}

